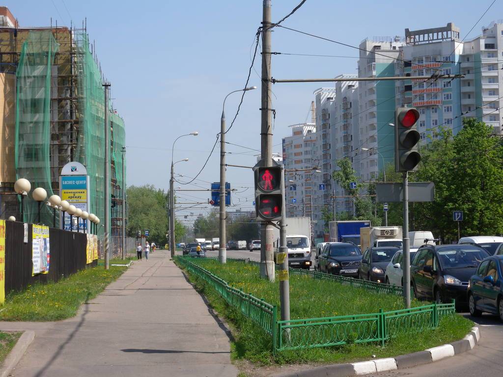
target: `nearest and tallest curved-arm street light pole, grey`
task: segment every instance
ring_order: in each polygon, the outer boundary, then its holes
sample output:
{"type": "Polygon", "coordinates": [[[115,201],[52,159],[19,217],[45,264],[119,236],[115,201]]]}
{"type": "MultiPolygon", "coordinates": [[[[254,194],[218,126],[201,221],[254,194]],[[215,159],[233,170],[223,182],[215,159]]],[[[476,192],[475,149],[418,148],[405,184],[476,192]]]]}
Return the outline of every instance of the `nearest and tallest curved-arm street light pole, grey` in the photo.
{"type": "Polygon", "coordinates": [[[226,240],[226,232],[225,232],[225,196],[227,194],[225,190],[225,133],[227,132],[225,129],[225,100],[232,93],[238,91],[247,91],[257,89],[257,86],[245,87],[244,89],[231,91],[227,96],[225,96],[222,105],[222,117],[220,118],[220,234],[219,234],[219,245],[218,248],[218,261],[220,263],[225,263],[227,261],[227,248],[225,246],[226,240]]]}

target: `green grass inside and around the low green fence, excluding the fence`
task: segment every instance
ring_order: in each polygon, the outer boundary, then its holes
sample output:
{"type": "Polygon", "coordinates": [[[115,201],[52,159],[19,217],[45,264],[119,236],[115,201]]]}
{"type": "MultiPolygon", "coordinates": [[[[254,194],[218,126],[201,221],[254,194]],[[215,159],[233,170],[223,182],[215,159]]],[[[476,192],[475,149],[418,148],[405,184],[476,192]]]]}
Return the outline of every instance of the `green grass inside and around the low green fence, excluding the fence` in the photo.
{"type": "MultiPolygon", "coordinates": [[[[259,268],[242,262],[227,262],[221,265],[214,260],[196,259],[228,282],[234,288],[242,288],[268,303],[279,306],[279,281],[271,283],[259,277],[259,268]]],[[[271,337],[238,310],[229,307],[204,280],[191,274],[196,288],[203,292],[214,309],[232,326],[235,337],[233,357],[261,364],[271,363],[327,363],[368,360],[375,357],[390,357],[408,352],[421,351],[450,341],[462,339],[473,323],[459,315],[445,317],[436,330],[403,332],[379,343],[348,344],[295,351],[282,351],[276,357],[271,353],[271,337]],[[260,335],[257,335],[260,334],[260,335]]],[[[412,306],[424,302],[414,300],[412,306]]],[[[305,275],[290,275],[290,312],[292,319],[329,317],[349,314],[376,313],[403,309],[402,298],[394,295],[376,294],[363,288],[344,287],[334,281],[314,280],[305,275]]],[[[278,310],[279,312],[279,310],[278,310]]]]}

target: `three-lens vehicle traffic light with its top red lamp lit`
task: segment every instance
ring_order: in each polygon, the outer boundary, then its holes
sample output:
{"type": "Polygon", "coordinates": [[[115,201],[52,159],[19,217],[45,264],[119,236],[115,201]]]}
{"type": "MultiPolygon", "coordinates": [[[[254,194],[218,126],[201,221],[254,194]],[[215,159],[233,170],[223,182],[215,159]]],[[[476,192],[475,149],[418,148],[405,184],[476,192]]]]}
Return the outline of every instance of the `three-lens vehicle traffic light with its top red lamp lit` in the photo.
{"type": "Polygon", "coordinates": [[[415,170],[421,161],[418,142],[421,138],[416,123],[419,112],[415,108],[395,111],[395,171],[415,170]]]}

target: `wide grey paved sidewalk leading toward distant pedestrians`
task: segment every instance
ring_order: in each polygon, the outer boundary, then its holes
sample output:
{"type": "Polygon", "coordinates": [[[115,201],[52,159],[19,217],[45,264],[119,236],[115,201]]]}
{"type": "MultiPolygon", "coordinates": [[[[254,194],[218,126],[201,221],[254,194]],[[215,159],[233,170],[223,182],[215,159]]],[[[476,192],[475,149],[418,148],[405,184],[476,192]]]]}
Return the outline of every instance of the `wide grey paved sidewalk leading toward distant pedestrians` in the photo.
{"type": "Polygon", "coordinates": [[[235,376],[226,329],[165,250],[135,261],[75,318],[0,322],[35,330],[12,375],[235,376]]]}

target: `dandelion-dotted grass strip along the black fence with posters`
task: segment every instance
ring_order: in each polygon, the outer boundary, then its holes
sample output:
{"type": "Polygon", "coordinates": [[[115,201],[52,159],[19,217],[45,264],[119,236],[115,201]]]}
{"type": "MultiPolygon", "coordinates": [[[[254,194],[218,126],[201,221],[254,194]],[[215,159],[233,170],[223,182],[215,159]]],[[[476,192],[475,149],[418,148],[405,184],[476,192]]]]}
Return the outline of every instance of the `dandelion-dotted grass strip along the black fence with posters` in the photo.
{"type": "Polygon", "coordinates": [[[73,317],[80,305],[98,296],[127,267],[86,268],[47,284],[11,293],[0,307],[2,321],[58,321],[73,317]]]}

